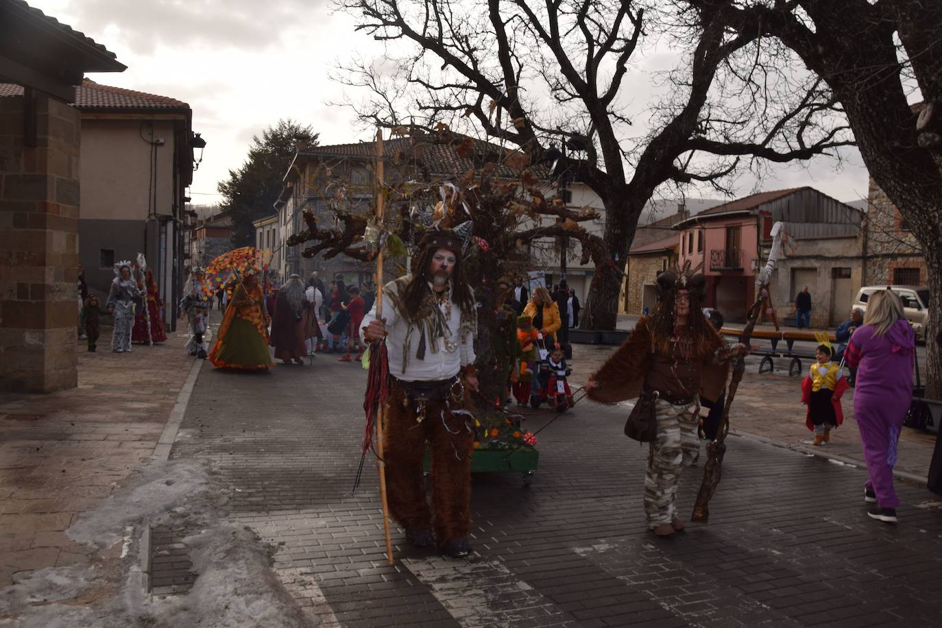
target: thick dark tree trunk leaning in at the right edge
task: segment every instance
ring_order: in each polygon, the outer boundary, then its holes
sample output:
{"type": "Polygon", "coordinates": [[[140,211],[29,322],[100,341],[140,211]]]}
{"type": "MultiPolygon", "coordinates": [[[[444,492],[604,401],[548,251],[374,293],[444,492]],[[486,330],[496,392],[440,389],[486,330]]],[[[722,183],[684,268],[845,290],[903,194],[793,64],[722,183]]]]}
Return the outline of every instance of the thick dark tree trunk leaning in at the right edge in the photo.
{"type": "Polygon", "coordinates": [[[942,398],[942,2],[696,0],[739,32],[784,42],[847,116],[870,177],[918,240],[934,302],[929,394],[942,398]],[[923,102],[910,105],[911,95],[923,102]]]}

